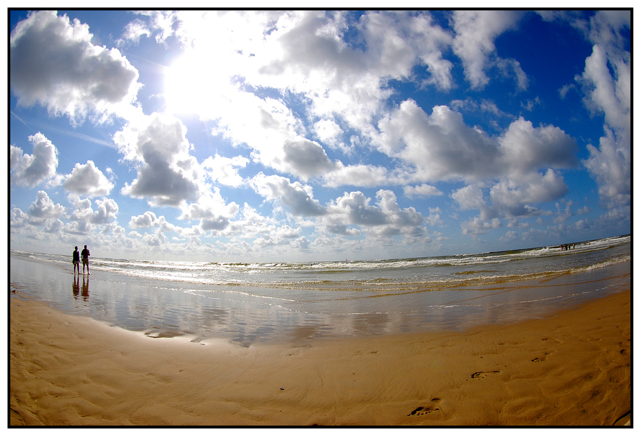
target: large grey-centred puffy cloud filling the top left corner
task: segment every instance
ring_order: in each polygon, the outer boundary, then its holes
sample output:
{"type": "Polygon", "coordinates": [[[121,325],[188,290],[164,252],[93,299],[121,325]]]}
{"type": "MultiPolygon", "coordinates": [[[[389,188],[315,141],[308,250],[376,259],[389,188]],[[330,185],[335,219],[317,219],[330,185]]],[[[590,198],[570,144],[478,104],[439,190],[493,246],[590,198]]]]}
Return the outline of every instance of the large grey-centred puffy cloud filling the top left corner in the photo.
{"type": "Polygon", "coordinates": [[[117,49],[91,44],[89,26],[53,10],[31,12],[10,37],[10,88],[19,104],[39,103],[73,123],[127,107],[138,71],[117,49]]]}

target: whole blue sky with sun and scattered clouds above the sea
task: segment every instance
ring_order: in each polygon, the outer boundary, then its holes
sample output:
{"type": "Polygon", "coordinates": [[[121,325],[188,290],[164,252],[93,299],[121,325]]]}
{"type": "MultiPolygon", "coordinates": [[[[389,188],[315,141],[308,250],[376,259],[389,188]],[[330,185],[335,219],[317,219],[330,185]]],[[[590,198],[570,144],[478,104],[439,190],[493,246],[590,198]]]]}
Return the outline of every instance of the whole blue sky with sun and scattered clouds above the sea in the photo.
{"type": "Polygon", "coordinates": [[[12,250],[396,259],[631,232],[630,10],[10,10],[12,250]]]}

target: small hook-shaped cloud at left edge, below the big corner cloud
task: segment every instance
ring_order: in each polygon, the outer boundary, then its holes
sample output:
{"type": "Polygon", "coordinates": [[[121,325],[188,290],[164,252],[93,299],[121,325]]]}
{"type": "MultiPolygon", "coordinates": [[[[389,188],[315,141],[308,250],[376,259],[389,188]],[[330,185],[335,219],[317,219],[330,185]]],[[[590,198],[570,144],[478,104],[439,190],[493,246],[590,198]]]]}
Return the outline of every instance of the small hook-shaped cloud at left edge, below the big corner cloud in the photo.
{"type": "Polygon", "coordinates": [[[40,132],[28,139],[33,144],[31,155],[27,155],[19,147],[10,146],[11,182],[30,188],[47,181],[58,184],[55,179],[58,149],[40,132]]]}

